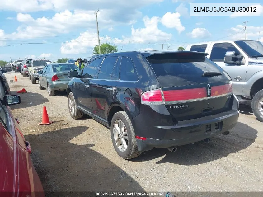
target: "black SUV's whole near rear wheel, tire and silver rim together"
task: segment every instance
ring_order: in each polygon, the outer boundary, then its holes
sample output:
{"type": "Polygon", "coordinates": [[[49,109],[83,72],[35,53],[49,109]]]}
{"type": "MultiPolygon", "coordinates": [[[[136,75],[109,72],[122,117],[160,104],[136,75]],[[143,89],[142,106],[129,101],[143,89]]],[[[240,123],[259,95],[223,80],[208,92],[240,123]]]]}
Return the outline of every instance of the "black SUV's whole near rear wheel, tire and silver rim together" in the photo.
{"type": "Polygon", "coordinates": [[[138,151],[134,129],[125,111],[119,111],[113,116],[110,133],[115,151],[120,157],[132,159],[142,153],[138,151]]]}

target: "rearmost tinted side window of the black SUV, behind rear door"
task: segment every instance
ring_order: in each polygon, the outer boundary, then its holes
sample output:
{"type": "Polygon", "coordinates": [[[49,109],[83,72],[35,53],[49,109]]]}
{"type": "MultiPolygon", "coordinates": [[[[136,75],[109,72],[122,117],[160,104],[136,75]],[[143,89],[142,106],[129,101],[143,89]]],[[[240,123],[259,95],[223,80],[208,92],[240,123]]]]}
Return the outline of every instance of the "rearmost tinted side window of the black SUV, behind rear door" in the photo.
{"type": "Polygon", "coordinates": [[[138,75],[133,61],[130,58],[122,57],[120,63],[120,80],[138,81],[138,75]]]}

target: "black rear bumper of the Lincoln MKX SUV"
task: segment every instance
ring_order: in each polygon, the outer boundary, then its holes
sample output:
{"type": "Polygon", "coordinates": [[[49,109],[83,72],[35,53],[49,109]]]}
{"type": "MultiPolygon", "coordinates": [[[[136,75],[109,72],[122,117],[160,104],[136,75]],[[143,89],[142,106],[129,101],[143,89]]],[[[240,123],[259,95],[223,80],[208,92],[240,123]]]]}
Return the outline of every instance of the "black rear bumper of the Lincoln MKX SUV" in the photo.
{"type": "MultiPolygon", "coordinates": [[[[144,110],[143,108],[144,106],[141,106],[141,112],[144,110]]],[[[163,114],[159,112],[152,110],[150,116],[140,113],[131,120],[135,135],[146,138],[146,140],[136,139],[139,151],[181,146],[211,138],[232,129],[237,124],[239,117],[236,97],[232,110],[216,115],[178,121],[177,124],[174,123],[170,115],[165,115],[164,111],[161,111],[163,114]]]]}

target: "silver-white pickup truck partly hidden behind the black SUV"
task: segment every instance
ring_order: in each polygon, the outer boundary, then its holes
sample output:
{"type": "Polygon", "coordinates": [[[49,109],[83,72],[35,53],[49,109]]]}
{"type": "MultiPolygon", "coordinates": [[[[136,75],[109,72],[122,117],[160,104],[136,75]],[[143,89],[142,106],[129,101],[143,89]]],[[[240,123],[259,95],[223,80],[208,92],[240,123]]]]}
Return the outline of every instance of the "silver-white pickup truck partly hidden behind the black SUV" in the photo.
{"type": "Polygon", "coordinates": [[[256,40],[223,40],[188,45],[188,51],[208,53],[233,80],[239,103],[251,105],[263,122],[263,44],[256,40]]]}

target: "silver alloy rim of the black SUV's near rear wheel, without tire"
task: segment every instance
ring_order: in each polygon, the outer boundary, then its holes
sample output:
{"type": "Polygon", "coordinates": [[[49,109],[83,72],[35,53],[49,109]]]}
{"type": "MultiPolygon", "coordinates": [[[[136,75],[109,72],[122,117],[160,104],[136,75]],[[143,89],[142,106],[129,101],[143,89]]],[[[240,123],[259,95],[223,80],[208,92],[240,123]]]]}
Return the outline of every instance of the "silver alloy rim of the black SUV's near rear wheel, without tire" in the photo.
{"type": "Polygon", "coordinates": [[[116,120],[113,125],[113,136],[116,146],[121,152],[128,148],[128,133],[124,123],[121,120],[116,120]]]}

